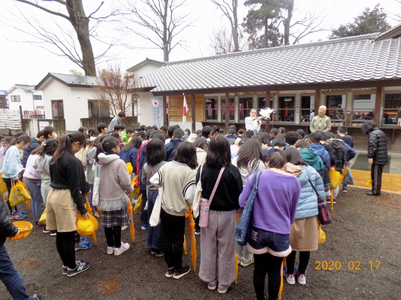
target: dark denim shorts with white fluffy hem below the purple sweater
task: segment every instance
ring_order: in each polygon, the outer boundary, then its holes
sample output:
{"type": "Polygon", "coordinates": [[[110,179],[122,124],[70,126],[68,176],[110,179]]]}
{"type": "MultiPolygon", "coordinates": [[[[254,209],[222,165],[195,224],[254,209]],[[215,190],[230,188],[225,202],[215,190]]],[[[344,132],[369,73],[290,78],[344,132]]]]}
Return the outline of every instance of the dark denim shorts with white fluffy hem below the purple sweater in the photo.
{"type": "Polygon", "coordinates": [[[254,254],[269,252],[274,256],[286,257],[292,250],[289,236],[289,234],[266,231],[252,226],[247,247],[254,254]]]}

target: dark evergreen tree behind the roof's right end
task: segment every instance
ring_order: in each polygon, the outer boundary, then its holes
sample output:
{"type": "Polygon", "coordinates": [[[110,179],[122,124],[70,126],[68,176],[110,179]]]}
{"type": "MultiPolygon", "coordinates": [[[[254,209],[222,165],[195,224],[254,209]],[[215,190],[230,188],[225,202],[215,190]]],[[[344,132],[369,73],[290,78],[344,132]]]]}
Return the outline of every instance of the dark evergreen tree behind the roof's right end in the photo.
{"type": "Polygon", "coordinates": [[[340,25],[331,31],[329,39],[368,34],[374,32],[384,32],[391,26],[387,23],[387,14],[378,3],[372,10],[365,8],[360,15],[354,18],[353,23],[340,25]]]}

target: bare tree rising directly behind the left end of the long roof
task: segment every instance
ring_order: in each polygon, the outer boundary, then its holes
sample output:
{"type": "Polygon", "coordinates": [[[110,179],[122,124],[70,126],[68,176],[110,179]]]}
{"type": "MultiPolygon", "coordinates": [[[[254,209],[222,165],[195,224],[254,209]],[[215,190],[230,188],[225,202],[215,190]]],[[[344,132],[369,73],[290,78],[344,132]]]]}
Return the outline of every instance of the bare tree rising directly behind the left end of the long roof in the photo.
{"type": "Polygon", "coordinates": [[[168,61],[171,50],[179,45],[186,46],[185,39],[178,35],[192,25],[191,11],[186,10],[187,0],[139,0],[143,7],[133,0],[122,4],[124,20],[122,28],[140,36],[151,47],[163,50],[164,61],[168,61]]]}

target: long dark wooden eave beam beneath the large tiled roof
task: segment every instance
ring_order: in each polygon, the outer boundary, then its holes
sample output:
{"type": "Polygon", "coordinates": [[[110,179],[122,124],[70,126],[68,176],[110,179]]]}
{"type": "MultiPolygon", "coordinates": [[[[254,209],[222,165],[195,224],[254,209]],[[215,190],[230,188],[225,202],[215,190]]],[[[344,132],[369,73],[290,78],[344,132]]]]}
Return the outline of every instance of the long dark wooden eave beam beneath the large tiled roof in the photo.
{"type": "Polygon", "coordinates": [[[266,90],[299,90],[299,89],[330,89],[330,88],[360,88],[372,86],[401,86],[401,79],[385,79],[385,80],[370,80],[370,81],[348,81],[348,82],[326,82],[326,83],[301,83],[301,84],[281,84],[281,85],[258,85],[244,87],[222,87],[210,89],[191,89],[184,91],[152,91],[154,96],[162,95],[179,95],[182,92],[194,94],[213,94],[227,92],[257,92],[266,90]]]}

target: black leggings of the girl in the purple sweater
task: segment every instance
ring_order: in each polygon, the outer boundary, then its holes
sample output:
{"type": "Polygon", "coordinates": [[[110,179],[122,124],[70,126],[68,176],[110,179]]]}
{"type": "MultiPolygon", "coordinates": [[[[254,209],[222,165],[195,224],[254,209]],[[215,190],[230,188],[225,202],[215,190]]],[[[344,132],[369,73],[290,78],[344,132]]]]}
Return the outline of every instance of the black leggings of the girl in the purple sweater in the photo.
{"type": "Polygon", "coordinates": [[[254,287],[257,300],[264,300],[266,273],[269,277],[269,300],[276,300],[281,284],[281,264],[284,257],[273,256],[270,253],[254,254],[254,287]]]}

